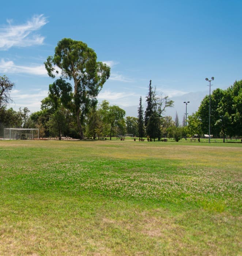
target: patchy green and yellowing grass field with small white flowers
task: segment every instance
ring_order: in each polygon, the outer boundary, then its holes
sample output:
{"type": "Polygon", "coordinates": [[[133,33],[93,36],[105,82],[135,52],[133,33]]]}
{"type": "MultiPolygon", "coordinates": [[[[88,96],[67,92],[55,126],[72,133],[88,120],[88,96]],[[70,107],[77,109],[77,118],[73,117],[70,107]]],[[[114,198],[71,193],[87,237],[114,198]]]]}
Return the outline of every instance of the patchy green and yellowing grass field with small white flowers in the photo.
{"type": "Polygon", "coordinates": [[[0,141],[0,255],[242,255],[242,143],[0,141]]]}

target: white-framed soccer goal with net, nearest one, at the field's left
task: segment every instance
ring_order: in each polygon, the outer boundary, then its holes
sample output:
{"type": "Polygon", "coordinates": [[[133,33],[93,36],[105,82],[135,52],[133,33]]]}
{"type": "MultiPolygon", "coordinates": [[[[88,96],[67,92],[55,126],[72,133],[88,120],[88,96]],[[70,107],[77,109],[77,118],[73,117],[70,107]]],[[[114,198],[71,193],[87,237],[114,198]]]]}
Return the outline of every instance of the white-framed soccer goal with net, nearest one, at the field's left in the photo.
{"type": "Polygon", "coordinates": [[[4,140],[33,140],[39,138],[39,129],[4,128],[4,140]]]}

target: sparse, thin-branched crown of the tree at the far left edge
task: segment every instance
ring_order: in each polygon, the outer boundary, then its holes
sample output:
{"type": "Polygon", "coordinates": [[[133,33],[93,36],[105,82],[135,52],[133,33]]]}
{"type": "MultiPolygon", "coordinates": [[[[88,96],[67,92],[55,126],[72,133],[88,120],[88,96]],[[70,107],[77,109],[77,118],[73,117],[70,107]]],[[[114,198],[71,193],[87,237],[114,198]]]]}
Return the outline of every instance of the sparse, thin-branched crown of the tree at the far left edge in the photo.
{"type": "Polygon", "coordinates": [[[0,76],[0,108],[13,102],[10,97],[10,91],[13,87],[14,83],[12,83],[7,76],[0,76]]]}

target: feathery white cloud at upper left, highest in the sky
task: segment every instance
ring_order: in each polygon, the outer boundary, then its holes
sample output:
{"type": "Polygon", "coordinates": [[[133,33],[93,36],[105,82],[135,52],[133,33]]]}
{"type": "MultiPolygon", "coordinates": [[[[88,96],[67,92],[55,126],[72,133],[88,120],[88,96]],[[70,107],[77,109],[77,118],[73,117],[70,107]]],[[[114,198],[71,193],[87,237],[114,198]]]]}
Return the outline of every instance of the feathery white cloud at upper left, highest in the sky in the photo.
{"type": "Polygon", "coordinates": [[[0,50],[8,50],[13,46],[27,47],[41,45],[44,37],[34,32],[41,29],[48,21],[41,15],[34,15],[22,25],[12,25],[12,20],[7,20],[8,26],[0,27],[0,50]]]}

